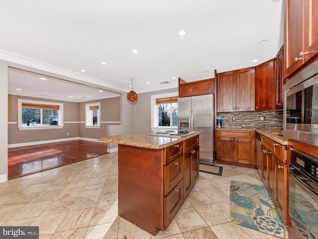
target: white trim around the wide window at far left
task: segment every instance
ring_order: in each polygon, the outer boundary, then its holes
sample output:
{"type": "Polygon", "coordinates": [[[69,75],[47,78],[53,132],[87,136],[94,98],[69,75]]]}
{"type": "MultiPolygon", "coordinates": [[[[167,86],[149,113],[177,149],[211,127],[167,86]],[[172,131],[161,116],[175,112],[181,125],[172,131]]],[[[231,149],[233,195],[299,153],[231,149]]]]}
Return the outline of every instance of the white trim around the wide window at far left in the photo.
{"type": "Polygon", "coordinates": [[[32,101],[26,99],[18,99],[18,129],[19,130],[33,130],[33,129],[57,129],[64,127],[64,117],[63,117],[63,103],[57,102],[47,102],[47,101],[32,101]],[[35,104],[35,105],[52,105],[59,106],[58,122],[59,125],[46,125],[46,126],[22,126],[22,102],[35,104]]]}

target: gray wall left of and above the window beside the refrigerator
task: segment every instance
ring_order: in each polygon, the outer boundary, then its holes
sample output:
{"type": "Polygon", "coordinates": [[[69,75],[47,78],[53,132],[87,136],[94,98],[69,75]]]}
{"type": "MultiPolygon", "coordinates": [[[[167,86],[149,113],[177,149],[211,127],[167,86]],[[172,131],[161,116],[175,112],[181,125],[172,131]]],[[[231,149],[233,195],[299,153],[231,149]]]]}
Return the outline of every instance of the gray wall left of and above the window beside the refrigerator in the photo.
{"type": "Polygon", "coordinates": [[[178,88],[138,94],[138,102],[134,105],[134,132],[151,131],[151,96],[171,92],[178,92],[178,88]]]}

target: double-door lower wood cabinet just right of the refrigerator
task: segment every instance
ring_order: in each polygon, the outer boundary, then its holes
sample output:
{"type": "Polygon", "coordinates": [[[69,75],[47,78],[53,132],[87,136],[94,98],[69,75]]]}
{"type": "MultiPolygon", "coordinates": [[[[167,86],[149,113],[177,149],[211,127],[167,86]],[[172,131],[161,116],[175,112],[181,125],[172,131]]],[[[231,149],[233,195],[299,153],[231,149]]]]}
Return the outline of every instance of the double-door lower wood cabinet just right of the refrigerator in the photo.
{"type": "Polygon", "coordinates": [[[255,166],[255,131],[217,130],[216,152],[219,161],[255,166]]]}

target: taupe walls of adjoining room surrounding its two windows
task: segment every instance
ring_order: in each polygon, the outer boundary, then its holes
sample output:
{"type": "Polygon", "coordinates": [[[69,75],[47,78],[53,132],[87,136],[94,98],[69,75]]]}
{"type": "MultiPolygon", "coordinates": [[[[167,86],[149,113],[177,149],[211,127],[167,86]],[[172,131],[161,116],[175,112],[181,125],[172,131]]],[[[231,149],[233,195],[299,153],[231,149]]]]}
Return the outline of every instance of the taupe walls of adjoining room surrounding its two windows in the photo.
{"type": "Polygon", "coordinates": [[[107,135],[107,125],[102,123],[100,129],[85,128],[85,104],[100,102],[101,121],[120,121],[119,97],[89,101],[67,102],[34,97],[8,95],[8,121],[18,121],[18,99],[63,103],[64,127],[61,129],[19,130],[18,124],[8,124],[8,144],[57,140],[74,137],[98,139],[107,135]],[[80,123],[79,123],[80,122],[80,123]],[[69,135],[67,135],[69,133],[69,135]]]}

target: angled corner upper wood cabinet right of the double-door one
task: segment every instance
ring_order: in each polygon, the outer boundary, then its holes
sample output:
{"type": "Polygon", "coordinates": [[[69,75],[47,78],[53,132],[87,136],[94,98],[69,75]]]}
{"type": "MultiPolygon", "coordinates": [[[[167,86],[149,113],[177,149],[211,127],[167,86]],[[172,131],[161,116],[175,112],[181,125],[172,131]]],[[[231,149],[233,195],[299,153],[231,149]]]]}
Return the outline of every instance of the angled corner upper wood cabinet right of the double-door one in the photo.
{"type": "Polygon", "coordinates": [[[256,66],[255,77],[255,110],[274,109],[274,78],[276,58],[256,66]]]}

